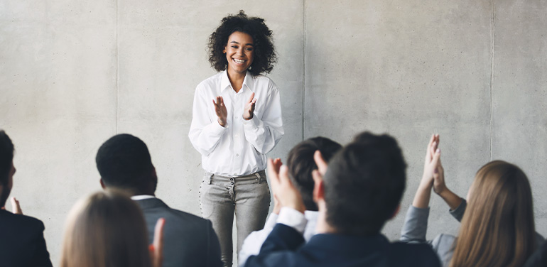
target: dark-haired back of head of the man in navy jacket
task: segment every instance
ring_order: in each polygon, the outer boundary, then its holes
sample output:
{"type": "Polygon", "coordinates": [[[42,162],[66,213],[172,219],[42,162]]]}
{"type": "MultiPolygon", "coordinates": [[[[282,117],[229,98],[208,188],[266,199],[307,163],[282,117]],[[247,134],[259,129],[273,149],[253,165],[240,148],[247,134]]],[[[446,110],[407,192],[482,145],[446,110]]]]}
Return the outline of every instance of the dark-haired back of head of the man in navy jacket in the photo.
{"type": "Polygon", "coordinates": [[[332,227],[342,234],[378,234],[401,202],[406,163],[393,137],[362,133],[332,158],[323,182],[332,227]]]}

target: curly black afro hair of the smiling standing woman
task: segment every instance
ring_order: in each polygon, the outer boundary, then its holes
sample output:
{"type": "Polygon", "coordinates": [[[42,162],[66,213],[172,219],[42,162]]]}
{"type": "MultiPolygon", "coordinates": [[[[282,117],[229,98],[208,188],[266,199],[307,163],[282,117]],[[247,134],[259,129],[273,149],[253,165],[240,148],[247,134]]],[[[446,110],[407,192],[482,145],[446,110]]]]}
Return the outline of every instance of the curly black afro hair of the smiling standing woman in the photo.
{"type": "Polygon", "coordinates": [[[253,38],[254,60],[249,72],[256,76],[262,72],[269,73],[273,64],[277,62],[277,55],[273,47],[272,32],[264,23],[264,18],[248,17],[240,10],[237,15],[222,18],[220,26],[209,36],[209,62],[217,71],[226,70],[228,60],[223,53],[232,33],[239,31],[247,33],[253,38]]]}

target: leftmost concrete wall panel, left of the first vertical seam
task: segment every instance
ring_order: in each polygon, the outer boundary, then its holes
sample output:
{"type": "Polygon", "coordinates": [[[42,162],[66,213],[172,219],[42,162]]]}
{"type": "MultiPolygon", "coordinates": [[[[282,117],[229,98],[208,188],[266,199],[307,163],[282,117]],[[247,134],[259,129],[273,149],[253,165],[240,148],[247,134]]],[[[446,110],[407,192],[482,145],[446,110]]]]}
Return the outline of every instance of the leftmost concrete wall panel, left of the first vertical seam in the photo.
{"type": "Polygon", "coordinates": [[[111,1],[0,4],[0,128],[16,147],[11,196],[44,222],[55,266],[66,214],[99,190],[94,156],[115,132],[115,11],[111,1]]]}

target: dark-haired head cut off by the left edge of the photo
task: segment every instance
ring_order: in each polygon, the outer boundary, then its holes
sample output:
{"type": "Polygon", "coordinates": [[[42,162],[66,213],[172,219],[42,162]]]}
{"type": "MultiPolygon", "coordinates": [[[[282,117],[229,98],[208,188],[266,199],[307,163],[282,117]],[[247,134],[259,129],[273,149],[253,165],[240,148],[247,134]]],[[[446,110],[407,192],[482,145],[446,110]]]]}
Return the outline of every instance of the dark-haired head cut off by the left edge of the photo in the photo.
{"type": "Polygon", "coordinates": [[[8,188],[9,173],[13,163],[13,143],[5,131],[0,130],[0,207],[4,207],[11,188],[8,188]]]}

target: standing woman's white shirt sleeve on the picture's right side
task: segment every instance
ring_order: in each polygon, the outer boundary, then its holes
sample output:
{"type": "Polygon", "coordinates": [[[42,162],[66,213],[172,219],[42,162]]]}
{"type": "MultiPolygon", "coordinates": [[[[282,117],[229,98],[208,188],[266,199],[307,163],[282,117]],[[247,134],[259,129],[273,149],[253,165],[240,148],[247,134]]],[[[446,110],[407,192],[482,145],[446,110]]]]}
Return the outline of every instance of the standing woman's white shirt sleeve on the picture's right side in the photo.
{"type": "Polygon", "coordinates": [[[285,134],[283,120],[281,119],[279,89],[271,82],[269,91],[270,94],[266,99],[256,99],[256,104],[264,101],[262,118],[259,119],[257,116],[253,116],[253,119],[248,121],[242,118],[245,138],[254,146],[256,151],[263,154],[270,152],[285,134]]]}

